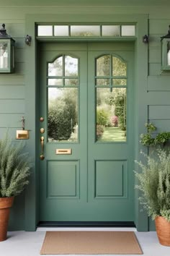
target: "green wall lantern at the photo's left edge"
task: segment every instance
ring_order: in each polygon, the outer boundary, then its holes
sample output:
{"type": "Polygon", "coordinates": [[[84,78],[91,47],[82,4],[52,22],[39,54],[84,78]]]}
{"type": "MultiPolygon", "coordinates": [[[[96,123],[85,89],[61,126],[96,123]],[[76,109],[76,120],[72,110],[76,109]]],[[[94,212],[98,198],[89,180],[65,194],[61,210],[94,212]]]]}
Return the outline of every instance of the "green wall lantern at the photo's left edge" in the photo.
{"type": "Polygon", "coordinates": [[[14,72],[14,39],[6,34],[5,25],[0,29],[0,73],[14,72]]]}

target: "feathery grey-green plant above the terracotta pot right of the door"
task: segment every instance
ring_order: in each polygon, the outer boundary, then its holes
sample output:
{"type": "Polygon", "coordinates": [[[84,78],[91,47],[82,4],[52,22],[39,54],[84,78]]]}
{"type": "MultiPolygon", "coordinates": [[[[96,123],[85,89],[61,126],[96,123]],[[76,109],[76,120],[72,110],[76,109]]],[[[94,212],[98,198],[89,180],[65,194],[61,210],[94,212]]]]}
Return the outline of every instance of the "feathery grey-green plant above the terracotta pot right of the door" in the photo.
{"type": "Polygon", "coordinates": [[[141,173],[135,171],[141,196],[140,204],[147,210],[148,216],[153,219],[162,216],[170,221],[170,151],[156,150],[155,157],[143,153],[146,165],[135,161],[142,169],[141,173]]]}

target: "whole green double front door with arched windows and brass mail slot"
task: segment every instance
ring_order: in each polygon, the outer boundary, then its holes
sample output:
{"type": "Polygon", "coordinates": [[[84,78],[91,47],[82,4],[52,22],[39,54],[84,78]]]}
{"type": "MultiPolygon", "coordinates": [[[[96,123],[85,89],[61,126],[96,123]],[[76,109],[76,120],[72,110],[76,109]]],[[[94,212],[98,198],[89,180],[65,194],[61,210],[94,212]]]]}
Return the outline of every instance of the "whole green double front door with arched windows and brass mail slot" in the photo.
{"type": "Polygon", "coordinates": [[[41,43],[39,60],[40,221],[134,221],[133,43],[41,43]]]}

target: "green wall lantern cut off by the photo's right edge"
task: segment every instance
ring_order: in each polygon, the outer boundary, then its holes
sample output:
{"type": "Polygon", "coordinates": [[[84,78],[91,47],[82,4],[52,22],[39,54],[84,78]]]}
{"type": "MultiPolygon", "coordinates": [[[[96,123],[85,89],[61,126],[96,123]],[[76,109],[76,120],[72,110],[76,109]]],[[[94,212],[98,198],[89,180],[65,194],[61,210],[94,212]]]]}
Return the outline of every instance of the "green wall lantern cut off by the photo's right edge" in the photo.
{"type": "Polygon", "coordinates": [[[161,69],[170,70],[170,25],[168,34],[161,37],[161,69]]]}

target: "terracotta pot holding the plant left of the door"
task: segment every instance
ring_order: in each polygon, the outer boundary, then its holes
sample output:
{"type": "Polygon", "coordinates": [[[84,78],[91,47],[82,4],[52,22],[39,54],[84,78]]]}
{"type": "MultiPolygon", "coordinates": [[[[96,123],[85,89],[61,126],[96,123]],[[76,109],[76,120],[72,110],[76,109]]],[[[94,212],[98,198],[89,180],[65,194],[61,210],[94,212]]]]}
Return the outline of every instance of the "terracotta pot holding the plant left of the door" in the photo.
{"type": "Polygon", "coordinates": [[[14,197],[0,197],[0,242],[6,240],[9,211],[13,201],[14,197]]]}

